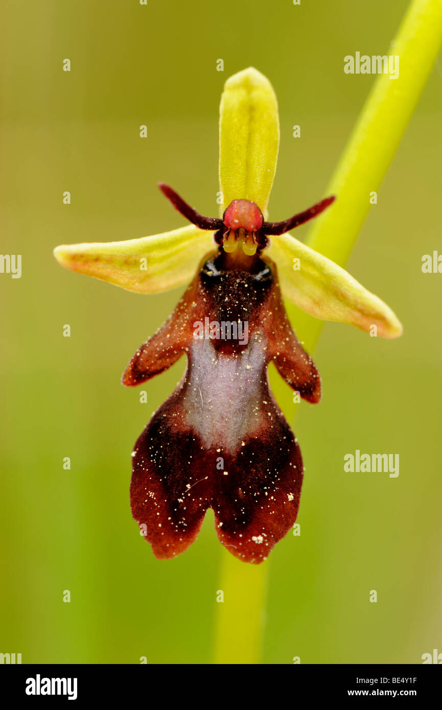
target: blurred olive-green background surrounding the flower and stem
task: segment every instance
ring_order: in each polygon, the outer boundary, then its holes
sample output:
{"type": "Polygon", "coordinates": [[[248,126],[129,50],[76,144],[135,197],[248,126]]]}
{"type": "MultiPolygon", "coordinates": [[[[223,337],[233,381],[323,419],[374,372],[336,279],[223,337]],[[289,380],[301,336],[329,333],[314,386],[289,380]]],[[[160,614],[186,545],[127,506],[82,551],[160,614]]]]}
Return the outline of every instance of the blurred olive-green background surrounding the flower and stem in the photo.
{"type": "MultiPolygon", "coordinates": [[[[345,75],[343,58],[388,53],[406,6],[4,3],[1,252],[23,255],[23,275],[0,275],[0,652],[23,663],[210,662],[227,554],[211,511],[185,555],[159,562],[129,508],[132,444],[184,362],[142,386],[148,404],[119,378],[180,290],[128,293],[63,271],[52,250],[181,226],[159,180],[215,214],[220,93],[249,65],[274,84],[281,112],[270,218],[316,202],[374,81],[345,75]]],[[[325,324],[323,401],[296,417],[301,537],[269,559],[264,663],[419,663],[442,651],[442,276],[421,272],[423,254],[442,252],[441,121],[436,66],[347,265],[404,336],[325,324]],[[355,449],[399,453],[399,477],[346,474],[355,449]]]]}

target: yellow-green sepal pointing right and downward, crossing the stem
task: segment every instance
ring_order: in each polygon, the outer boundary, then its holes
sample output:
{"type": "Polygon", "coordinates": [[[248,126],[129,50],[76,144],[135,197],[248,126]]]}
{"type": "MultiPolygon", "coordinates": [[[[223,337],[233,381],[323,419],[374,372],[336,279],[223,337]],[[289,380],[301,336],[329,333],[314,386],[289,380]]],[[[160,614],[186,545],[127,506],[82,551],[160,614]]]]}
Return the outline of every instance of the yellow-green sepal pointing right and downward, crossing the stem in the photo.
{"type": "Polygon", "coordinates": [[[350,323],[384,338],[397,338],[402,326],[380,298],[330,259],[290,234],[276,236],[266,254],[276,262],[284,297],[321,320],[350,323]]]}

